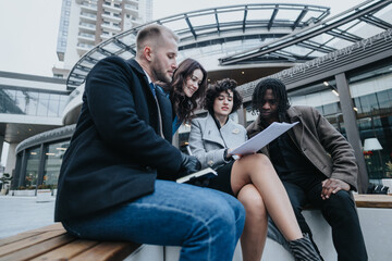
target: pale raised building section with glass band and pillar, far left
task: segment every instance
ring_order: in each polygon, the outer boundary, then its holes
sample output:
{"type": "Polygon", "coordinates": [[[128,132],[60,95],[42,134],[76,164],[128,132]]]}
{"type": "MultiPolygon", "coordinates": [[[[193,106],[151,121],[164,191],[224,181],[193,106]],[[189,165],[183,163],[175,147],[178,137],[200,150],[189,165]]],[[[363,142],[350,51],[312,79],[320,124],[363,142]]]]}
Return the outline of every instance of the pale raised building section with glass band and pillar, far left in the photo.
{"type": "Polygon", "coordinates": [[[28,137],[63,126],[70,99],[65,79],[0,72],[0,154],[9,144],[5,173],[15,173],[15,149],[28,137]]]}

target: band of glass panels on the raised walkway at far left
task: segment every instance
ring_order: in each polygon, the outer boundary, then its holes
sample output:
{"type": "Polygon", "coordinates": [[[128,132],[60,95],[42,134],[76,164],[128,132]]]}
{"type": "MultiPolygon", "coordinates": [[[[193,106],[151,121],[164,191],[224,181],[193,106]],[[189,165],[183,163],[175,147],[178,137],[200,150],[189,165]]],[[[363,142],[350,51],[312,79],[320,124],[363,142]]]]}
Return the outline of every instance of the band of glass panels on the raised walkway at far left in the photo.
{"type": "Polygon", "coordinates": [[[23,89],[0,89],[0,113],[61,116],[68,95],[23,89]]]}

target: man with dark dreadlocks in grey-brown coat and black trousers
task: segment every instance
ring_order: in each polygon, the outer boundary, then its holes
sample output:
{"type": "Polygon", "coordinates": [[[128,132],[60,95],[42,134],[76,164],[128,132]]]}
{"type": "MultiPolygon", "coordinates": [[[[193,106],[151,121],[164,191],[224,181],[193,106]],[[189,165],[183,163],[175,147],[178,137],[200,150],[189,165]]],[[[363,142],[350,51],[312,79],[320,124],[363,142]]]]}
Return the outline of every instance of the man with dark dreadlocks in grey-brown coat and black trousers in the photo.
{"type": "Polygon", "coordinates": [[[316,109],[291,107],[285,86],[277,78],[258,83],[252,103],[259,115],[247,127],[249,138],[273,122],[298,122],[261,152],[270,158],[279,174],[302,231],[311,236],[302,214],[303,208],[311,203],[321,210],[332,227],[338,259],[367,260],[355,202],[350,192],[357,189],[358,174],[350,144],[316,109]]]}

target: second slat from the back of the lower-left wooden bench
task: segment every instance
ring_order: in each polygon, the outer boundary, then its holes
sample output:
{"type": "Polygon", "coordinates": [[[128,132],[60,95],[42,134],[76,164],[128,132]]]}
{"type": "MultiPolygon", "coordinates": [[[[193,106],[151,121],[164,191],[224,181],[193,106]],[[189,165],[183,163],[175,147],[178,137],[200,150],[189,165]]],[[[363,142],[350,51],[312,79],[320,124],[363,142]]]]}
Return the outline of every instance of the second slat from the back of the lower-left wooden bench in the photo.
{"type": "Polygon", "coordinates": [[[14,251],[19,251],[21,249],[25,249],[26,247],[29,247],[29,246],[37,245],[37,244],[46,241],[46,240],[48,240],[50,238],[63,235],[64,233],[65,233],[64,229],[62,229],[62,231],[42,232],[42,233],[34,235],[32,237],[27,237],[27,238],[24,238],[22,240],[4,245],[4,246],[0,247],[0,257],[4,256],[7,253],[10,253],[10,252],[14,252],[14,251]]]}

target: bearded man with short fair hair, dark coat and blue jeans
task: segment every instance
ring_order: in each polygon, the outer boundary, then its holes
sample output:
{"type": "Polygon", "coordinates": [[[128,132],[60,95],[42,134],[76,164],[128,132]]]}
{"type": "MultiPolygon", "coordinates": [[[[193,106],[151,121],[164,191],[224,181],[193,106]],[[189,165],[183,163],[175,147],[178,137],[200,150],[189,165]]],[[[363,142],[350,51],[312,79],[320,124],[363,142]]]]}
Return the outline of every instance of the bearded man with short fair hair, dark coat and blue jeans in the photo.
{"type": "Polygon", "coordinates": [[[54,219],[81,238],[182,246],[184,260],[231,260],[244,225],[241,203],[173,182],[199,169],[171,145],[171,104],[154,86],[171,82],[177,41],[164,26],[146,26],[136,59],[110,57],[90,71],[54,219]]]}

